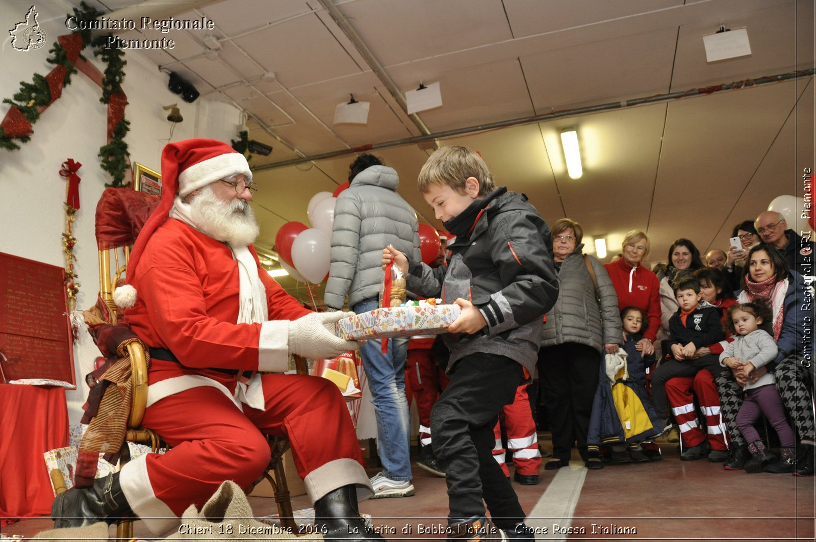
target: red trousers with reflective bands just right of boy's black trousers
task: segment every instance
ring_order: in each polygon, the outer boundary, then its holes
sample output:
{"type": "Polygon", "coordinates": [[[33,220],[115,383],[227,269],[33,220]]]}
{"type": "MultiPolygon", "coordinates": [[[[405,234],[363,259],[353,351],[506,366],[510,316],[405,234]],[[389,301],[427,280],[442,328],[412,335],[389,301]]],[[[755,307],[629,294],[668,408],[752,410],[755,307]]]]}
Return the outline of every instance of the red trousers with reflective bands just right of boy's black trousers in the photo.
{"type": "MultiPolygon", "coordinates": [[[[530,384],[521,384],[516,389],[516,398],[512,404],[504,407],[504,428],[508,433],[507,450],[512,451],[512,462],[516,465],[516,472],[523,475],[538,474],[541,467],[541,451],[539,450],[539,433],[535,429],[533,411],[530,410],[530,396],[527,387],[530,384]]],[[[499,424],[493,429],[496,436],[496,445],[493,448],[493,458],[501,465],[505,476],[510,476],[507,464],[504,462],[507,450],[502,447],[502,432],[499,424]]]]}

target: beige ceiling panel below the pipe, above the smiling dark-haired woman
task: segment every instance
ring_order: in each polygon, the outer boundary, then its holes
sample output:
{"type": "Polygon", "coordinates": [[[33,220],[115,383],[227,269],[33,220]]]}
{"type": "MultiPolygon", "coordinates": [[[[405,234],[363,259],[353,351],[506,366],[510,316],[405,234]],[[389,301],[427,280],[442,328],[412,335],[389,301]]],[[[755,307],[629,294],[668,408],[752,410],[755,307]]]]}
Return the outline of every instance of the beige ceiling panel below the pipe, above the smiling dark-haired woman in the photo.
{"type": "MultiPolygon", "coordinates": [[[[654,207],[660,211],[650,224],[653,246],[656,242],[667,248],[685,237],[702,250],[713,242],[783,128],[791,112],[784,96],[795,89],[795,83],[779,83],[669,105],[654,193],[654,207]],[[721,122],[724,113],[729,122],[721,122]]],[[[765,193],[779,185],[778,178],[756,181],[751,184],[765,193]]],[[[767,205],[755,202],[754,217],[767,205]]]]}

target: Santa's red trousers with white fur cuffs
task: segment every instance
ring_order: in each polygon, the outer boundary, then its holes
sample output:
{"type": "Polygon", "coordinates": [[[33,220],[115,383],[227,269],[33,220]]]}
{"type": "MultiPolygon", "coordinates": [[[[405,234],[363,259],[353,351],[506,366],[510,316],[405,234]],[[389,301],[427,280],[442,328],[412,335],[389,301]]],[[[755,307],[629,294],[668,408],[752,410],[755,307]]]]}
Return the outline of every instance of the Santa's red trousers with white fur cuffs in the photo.
{"type": "Polygon", "coordinates": [[[144,426],[171,449],[132,460],[120,481],[141,518],[165,518],[146,521],[151,531],[171,528],[177,522],[171,514],[180,517],[190,504],[200,509],[224,480],[251,486],[269,464],[262,433],[289,438],[313,500],[340,486],[366,483],[357,433],[337,386],[315,376],[261,378],[264,410],[245,404],[241,411],[211,385],[185,389],[147,408],[144,426]]]}

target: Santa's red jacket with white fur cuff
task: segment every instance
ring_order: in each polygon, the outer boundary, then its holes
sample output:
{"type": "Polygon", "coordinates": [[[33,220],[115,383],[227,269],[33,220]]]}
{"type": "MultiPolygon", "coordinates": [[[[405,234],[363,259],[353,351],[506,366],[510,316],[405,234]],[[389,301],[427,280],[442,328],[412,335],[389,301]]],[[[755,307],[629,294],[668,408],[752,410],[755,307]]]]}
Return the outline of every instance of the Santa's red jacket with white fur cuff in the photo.
{"type": "Polygon", "coordinates": [[[288,323],[309,313],[261,268],[268,322],[236,323],[238,265],[222,242],[168,219],[150,238],[132,280],[138,299],[125,321],[150,348],[170,350],[179,361],[153,359],[149,384],[179,375],[203,375],[234,389],[237,371],[284,371],[288,323]]]}

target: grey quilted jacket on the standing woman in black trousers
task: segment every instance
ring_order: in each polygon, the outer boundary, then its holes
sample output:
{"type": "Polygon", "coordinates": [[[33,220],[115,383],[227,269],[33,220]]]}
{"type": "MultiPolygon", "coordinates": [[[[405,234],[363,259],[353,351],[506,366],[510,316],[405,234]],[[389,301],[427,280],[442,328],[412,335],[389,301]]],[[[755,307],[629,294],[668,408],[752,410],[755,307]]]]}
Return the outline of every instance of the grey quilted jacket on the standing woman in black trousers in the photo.
{"type": "Polygon", "coordinates": [[[561,262],[558,300],[547,313],[541,346],[577,343],[598,352],[604,344],[623,344],[618,295],[604,264],[587,256],[598,283],[597,297],[579,245],[561,262]],[[600,299],[600,302],[598,301],[600,299]]]}

